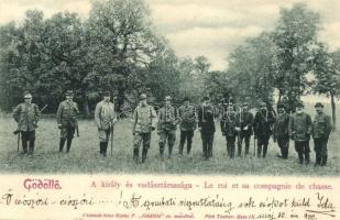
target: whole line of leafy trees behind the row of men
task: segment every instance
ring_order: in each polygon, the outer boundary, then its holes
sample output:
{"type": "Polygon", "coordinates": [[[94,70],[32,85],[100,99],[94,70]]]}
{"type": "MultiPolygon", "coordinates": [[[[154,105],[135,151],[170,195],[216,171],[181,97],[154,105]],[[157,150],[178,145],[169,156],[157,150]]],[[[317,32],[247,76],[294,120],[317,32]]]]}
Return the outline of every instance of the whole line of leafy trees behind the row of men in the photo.
{"type": "MultiPolygon", "coordinates": [[[[156,33],[143,0],[95,1],[86,20],[59,12],[45,19],[26,11],[22,22],[0,28],[0,100],[3,110],[33,94],[54,112],[64,92],[74,89],[81,112],[89,116],[100,92],[111,90],[118,109],[134,106],[141,92],[162,103],[166,95],[180,102],[273,103],[273,92],[295,102],[308,92],[340,95],[340,52],[318,41],[319,14],[305,4],[282,9],[273,30],[248,38],[228,56],[226,70],[210,70],[205,56],[178,58],[156,33]],[[307,77],[309,75],[309,77],[307,77]]],[[[228,38],[226,38],[228,41],[228,38]]],[[[226,54],[227,55],[227,54],[226,54]]]]}

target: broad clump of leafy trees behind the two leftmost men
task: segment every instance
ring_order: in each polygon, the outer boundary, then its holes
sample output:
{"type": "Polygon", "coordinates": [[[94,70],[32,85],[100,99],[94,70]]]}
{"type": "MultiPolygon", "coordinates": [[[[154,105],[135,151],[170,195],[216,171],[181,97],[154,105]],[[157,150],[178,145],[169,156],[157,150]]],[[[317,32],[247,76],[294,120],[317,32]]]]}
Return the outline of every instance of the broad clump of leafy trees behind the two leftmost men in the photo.
{"type": "Polygon", "coordinates": [[[23,90],[30,90],[37,102],[55,109],[64,91],[74,89],[89,116],[84,96],[89,85],[88,44],[78,15],[57,13],[44,20],[43,12],[33,10],[26,12],[22,25],[10,26],[1,44],[8,91],[19,91],[21,97],[23,90]]]}

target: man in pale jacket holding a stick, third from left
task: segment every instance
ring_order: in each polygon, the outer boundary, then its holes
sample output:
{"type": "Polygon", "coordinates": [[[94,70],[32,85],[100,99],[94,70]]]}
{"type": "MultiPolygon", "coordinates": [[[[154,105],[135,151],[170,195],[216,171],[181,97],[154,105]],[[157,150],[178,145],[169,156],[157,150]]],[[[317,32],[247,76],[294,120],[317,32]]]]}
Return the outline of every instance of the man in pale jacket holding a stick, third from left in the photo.
{"type": "Polygon", "coordinates": [[[114,122],[117,121],[114,105],[110,101],[110,91],[105,91],[102,100],[97,103],[95,110],[95,121],[99,136],[99,153],[103,157],[107,156],[109,139],[110,135],[113,135],[114,122]]]}

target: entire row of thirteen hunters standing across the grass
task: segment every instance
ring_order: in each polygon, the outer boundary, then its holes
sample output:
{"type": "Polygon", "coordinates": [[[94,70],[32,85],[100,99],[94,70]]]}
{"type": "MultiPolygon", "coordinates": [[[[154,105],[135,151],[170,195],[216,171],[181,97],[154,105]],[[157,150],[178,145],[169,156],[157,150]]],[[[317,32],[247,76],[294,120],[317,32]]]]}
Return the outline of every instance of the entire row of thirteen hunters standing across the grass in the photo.
{"type": "MultiPolygon", "coordinates": [[[[63,152],[66,142],[66,152],[69,152],[72,140],[78,128],[77,114],[79,113],[77,103],[73,101],[73,91],[66,92],[66,100],[59,103],[57,110],[57,124],[61,129],[59,152],[63,152]]],[[[172,106],[172,98],[165,97],[165,105],[155,112],[154,108],[147,105],[146,95],[140,96],[140,103],[133,112],[133,160],[139,162],[140,146],[142,145],[142,163],[145,162],[150,148],[151,133],[157,130],[160,156],[164,160],[164,151],[167,142],[171,158],[176,140],[176,128],[179,124],[180,141],[179,154],[183,154],[185,142],[187,142],[187,154],[193,145],[194,131],[198,128],[202,141],[204,160],[212,156],[215,125],[215,107],[210,103],[209,97],[204,97],[202,103],[196,109],[190,105],[189,99],[184,100],[184,105],[177,110],[172,106]]],[[[13,112],[13,118],[18,122],[18,130],[22,138],[24,154],[32,154],[34,151],[35,129],[40,118],[40,110],[32,103],[32,95],[24,95],[24,102],[20,103],[13,112]]],[[[265,157],[268,140],[273,134],[273,140],[277,142],[282,158],[287,158],[289,139],[295,142],[295,150],[298,153],[299,163],[309,163],[310,136],[315,141],[316,165],[327,163],[327,142],[331,131],[330,117],[322,111],[323,106],[316,103],[317,114],[311,121],[309,114],[304,112],[303,102],[296,106],[296,113],[289,116],[284,106],[278,106],[278,116],[267,109],[263,102],[255,117],[249,111],[246,103],[235,110],[233,103],[229,103],[222,110],[220,121],[221,132],[227,140],[227,152],[229,157],[234,157],[235,140],[238,140],[238,156],[242,154],[242,143],[245,144],[245,154],[249,154],[250,139],[254,134],[257,140],[257,157],[265,157]]],[[[99,134],[99,152],[107,155],[109,139],[113,135],[113,128],[117,121],[114,105],[110,101],[110,92],[103,94],[103,99],[96,106],[95,121],[99,134]]]]}

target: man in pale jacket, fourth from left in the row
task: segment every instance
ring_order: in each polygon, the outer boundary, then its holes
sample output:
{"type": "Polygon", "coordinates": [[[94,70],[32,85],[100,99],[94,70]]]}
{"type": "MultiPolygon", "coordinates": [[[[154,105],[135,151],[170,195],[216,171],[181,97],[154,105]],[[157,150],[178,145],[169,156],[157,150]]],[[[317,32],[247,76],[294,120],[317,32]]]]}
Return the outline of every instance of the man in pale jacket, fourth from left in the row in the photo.
{"type": "Polygon", "coordinates": [[[133,112],[133,161],[138,163],[140,146],[143,143],[142,163],[145,162],[147,150],[150,148],[151,132],[155,130],[157,114],[152,106],[147,105],[146,95],[140,96],[140,103],[133,112]]]}

